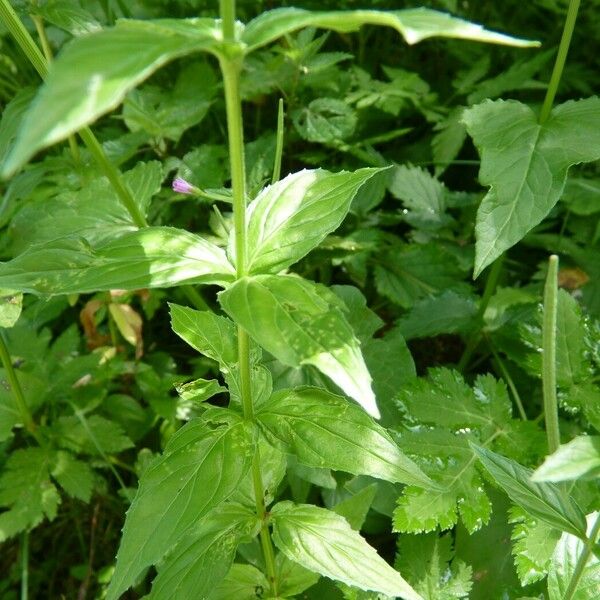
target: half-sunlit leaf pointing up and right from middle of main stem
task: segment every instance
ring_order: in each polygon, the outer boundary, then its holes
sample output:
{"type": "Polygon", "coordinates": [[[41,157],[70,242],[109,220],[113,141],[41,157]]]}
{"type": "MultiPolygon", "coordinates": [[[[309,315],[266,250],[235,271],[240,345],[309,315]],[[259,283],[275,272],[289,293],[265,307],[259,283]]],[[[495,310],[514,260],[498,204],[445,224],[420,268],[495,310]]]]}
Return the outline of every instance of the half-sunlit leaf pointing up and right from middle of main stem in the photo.
{"type": "MultiPolygon", "coordinates": [[[[360,187],[378,169],[300,171],[265,188],[248,206],[249,273],[278,273],[337,229],[360,187]]],[[[235,255],[233,230],[229,253],[235,255]]]]}

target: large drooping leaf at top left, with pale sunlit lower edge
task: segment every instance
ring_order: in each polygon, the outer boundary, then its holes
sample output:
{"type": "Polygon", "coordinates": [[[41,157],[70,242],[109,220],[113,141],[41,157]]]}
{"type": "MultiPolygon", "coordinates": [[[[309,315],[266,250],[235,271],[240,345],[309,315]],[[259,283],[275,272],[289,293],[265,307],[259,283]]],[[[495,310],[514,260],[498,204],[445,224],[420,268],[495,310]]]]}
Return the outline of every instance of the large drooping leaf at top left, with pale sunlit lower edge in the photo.
{"type": "Polygon", "coordinates": [[[3,176],[117,107],[130,89],[168,61],[202,50],[216,52],[218,44],[214,19],[122,20],[73,40],[52,64],[3,176]]]}

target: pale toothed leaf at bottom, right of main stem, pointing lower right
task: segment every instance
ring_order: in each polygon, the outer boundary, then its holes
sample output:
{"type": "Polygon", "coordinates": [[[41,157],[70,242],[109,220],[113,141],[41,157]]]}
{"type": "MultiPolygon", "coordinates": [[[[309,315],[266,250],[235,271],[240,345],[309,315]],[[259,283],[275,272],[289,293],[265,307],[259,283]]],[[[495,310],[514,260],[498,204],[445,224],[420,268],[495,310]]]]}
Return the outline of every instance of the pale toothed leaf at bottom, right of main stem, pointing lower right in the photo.
{"type": "Polygon", "coordinates": [[[276,504],[271,516],[273,541],[290,560],[362,590],[423,600],[343,517],[288,501],[276,504]]]}

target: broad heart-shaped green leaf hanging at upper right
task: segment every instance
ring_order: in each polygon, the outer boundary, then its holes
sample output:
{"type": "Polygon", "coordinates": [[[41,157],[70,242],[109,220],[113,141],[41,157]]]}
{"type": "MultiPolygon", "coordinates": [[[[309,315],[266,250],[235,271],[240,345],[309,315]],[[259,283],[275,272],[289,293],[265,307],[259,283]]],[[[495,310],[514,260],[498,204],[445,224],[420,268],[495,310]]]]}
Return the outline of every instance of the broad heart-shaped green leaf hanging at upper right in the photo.
{"type": "Polygon", "coordinates": [[[475,271],[481,271],[546,217],[574,164],[600,158],[600,99],[569,101],[538,123],[528,106],[487,100],[463,113],[490,190],[477,212],[475,271]]]}

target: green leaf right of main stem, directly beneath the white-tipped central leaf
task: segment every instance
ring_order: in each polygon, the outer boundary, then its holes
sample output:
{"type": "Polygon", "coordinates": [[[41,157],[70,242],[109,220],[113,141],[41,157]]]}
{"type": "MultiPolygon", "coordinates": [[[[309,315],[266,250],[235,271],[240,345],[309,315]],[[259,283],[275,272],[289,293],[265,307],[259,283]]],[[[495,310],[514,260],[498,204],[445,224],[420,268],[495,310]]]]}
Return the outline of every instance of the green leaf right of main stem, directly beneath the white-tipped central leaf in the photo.
{"type": "Polygon", "coordinates": [[[320,388],[281,390],[257,413],[268,434],[310,467],[430,487],[387,431],[355,404],[320,388]]]}

